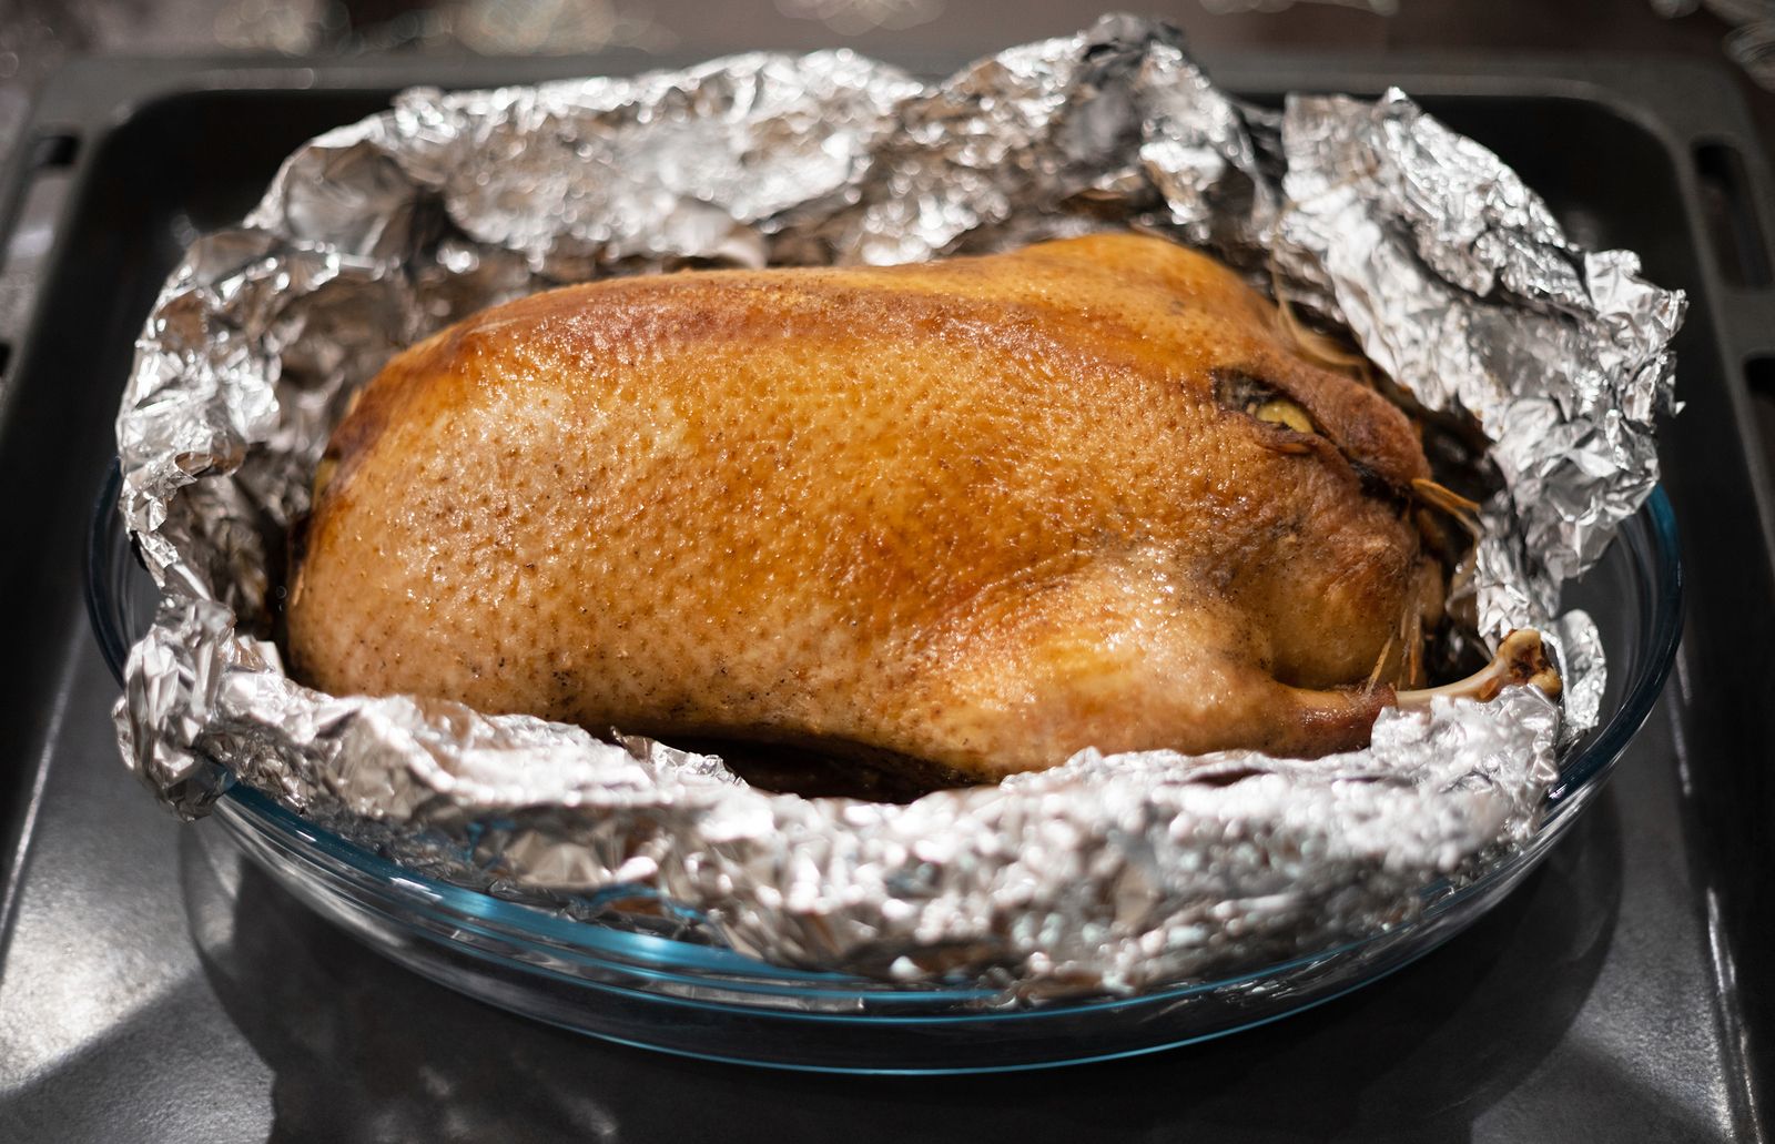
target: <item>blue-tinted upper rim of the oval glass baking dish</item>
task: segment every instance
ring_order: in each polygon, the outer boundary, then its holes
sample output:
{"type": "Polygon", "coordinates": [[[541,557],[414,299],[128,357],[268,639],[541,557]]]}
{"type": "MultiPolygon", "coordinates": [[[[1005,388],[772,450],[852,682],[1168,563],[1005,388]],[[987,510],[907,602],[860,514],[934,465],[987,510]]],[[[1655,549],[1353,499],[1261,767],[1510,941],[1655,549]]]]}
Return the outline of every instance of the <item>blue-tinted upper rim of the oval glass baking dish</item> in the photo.
{"type": "MultiPolygon", "coordinates": [[[[117,464],[112,462],[110,474],[105,481],[105,489],[99,494],[99,501],[94,506],[92,526],[87,535],[87,567],[85,567],[85,593],[87,593],[87,611],[92,622],[92,631],[98,640],[99,650],[105,657],[106,666],[117,682],[122,682],[124,663],[130,654],[130,640],[124,631],[124,616],[121,615],[121,576],[128,568],[117,567],[121,558],[121,520],[117,513],[119,492],[122,480],[117,464]]],[[[1681,579],[1681,560],[1677,545],[1677,526],[1676,513],[1670,506],[1670,499],[1665,496],[1663,489],[1658,487],[1647,497],[1645,504],[1635,517],[1644,520],[1645,544],[1635,544],[1633,529],[1624,529],[1621,536],[1633,549],[1633,560],[1637,568],[1651,577],[1647,590],[1640,592],[1640,629],[1647,632],[1644,654],[1637,657],[1633,664],[1635,671],[1628,684],[1626,696],[1621,707],[1590,739],[1589,744],[1573,757],[1560,773],[1558,783],[1548,794],[1548,815],[1541,826],[1541,833],[1548,835],[1557,831],[1564,822],[1564,810],[1578,801],[1574,796],[1590,789],[1598,783],[1610,767],[1626,751],[1633,735],[1638,734],[1645,719],[1651,716],[1653,705],[1668,679],[1672,663],[1676,659],[1676,648],[1683,632],[1683,579],[1681,579]]],[[[547,910],[534,906],[525,906],[520,902],[508,902],[477,890],[469,890],[453,883],[438,881],[428,878],[421,872],[399,867],[385,858],[380,858],[346,838],[323,830],[307,819],[296,815],[295,812],[284,808],[272,798],[245,787],[229,787],[224,796],[236,810],[245,817],[257,821],[270,833],[280,835],[286,842],[304,842],[312,846],[327,858],[339,862],[359,876],[369,879],[371,883],[394,885],[396,879],[415,890],[421,890],[430,901],[446,906],[465,918],[477,918],[485,922],[497,924],[508,940],[517,934],[534,934],[545,941],[554,941],[563,947],[588,950],[593,954],[607,954],[614,957],[612,965],[623,973],[635,977],[651,977],[660,981],[676,981],[682,984],[706,984],[712,975],[721,979],[724,988],[737,993],[754,991],[769,993],[772,997],[825,997],[840,998],[845,997],[845,989],[856,989],[856,995],[864,1000],[882,1002],[898,1000],[912,1005],[953,1005],[957,1002],[976,1000],[994,997],[989,989],[944,989],[944,988],[900,988],[882,981],[852,977],[843,973],[827,973],[813,970],[793,970],[785,966],[769,965],[749,957],[746,954],[698,945],[692,941],[678,941],[673,938],[660,938],[655,934],[630,933],[612,929],[609,926],[600,926],[596,922],[580,922],[547,910]],[[735,981],[738,977],[740,981],[735,981]]],[[[1516,854],[1514,858],[1498,863],[1484,876],[1468,883],[1461,888],[1448,890],[1445,885],[1431,886],[1425,894],[1431,899],[1429,910],[1411,926],[1420,926],[1432,917],[1452,910],[1457,902],[1493,886],[1502,878],[1512,876],[1523,862],[1534,858],[1537,851],[1534,847],[1516,854]]],[[[311,860],[312,862],[312,860],[311,860]]],[[[403,906],[412,908],[412,902],[403,902],[403,906]]],[[[1175,1000],[1180,997],[1189,997],[1195,993],[1207,993],[1212,989],[1221,989],[1227,986],[1235,986],[1239,982],[1257,981],[1264,977],[1273,977],[1285,973],[1289,970],[1303,968],[1317,961],[1337,957],[1351,950],[1361,949],[1365,945],[1376,943],[1383,938],[1392,936],[1392,933],[1381,933],[1367,938],[1360,938],[1333,949],[1319,950],[1303,957],[1290,959],[1280,965],[1267,965],[1248,973],[1237,973],[1232,977],[1191,982],[1177,988],[1143,993],[1131,998],[1095,998],[1083,1000],[1065,1005],[1047,1005],[1031,1011],[996,1011],[996,1013],[974,1013],[974,1014],[930,1014],[930,1016],[889,1016],[889,1014],[870,1014],[866,1018],[843,1018],[838,1014],[813,1014],[801,1013],[793,1016],[802,1018],[825,1018],[825,1020],[950,1020],[950,1021],[980,1021],[980,1020],[1006,1020],[1017,1016],[1040,1016],[1054,1013],[1079,1013],[1081,1009],[1116,1009],[1136,1004],[1152,1004],[1161,1000],[1175,1000]]],[[[431,938],[437,940],[437,938],[431,938]]],[[[477,956],[486,956],[476,950],[477,956]]],[[[536,966],[525,966],[536,970],[536,966]]],[[[541,970],[538,970],[541,972],[541,970]]],[[[596,982],[582,982],[593,986],[596,982]]],[[[596,984],[596,988],[621,988],[609,984],[596,984]]],[[[690,998],[669,998],[666,995],[650,995],[653,1000],[673,1000],[676,1004],[690,1004],[698,1007],[733,1007],[719,1002],[703,1002],[690,998]]],[[[774,1011],[777,1016],[790,1016],[790,1011],[774,1011]]]]}

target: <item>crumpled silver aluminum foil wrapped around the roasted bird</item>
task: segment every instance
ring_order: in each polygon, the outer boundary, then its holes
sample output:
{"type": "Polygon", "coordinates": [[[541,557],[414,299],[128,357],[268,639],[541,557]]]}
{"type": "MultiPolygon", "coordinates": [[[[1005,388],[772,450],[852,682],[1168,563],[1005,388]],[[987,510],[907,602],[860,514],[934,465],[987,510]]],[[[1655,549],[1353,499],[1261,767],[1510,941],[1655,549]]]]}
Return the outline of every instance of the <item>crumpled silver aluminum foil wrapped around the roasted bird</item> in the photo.
{"type": "MultiPolygon", "coordinates": [[[[1413,918],[1535,830],[1603,657],[1558,583],[1656,481],[1683,298],[1571,247],[1491,153],[1390,92],[1218,91],[1157,23],[1104,18],[935,85],[847,52],[444,94],[293,155],[197,242],[138,345],[121,510],[163,590],[117,705],[179,814],[236,776],[444,878],[609,924],[664,897],[763,959],[1012,995],[1127,991],[1413,918]],[[911,805],[756,790],[719,759],[282,671],[284,536],[387,357],[557,282],[692,265],[895,263],[1132,226],[1345,325],[1477,416],[1500,492],[1464,583],[1487,636],[1566,650],[1532,689],[1381,716],[1365,751],[1083,751],[911,805]],[[1271,275],[1276,275],[1274,279],[1271,275]]],[[[653,911],[657,915],[657,911],[653,911]]]]}

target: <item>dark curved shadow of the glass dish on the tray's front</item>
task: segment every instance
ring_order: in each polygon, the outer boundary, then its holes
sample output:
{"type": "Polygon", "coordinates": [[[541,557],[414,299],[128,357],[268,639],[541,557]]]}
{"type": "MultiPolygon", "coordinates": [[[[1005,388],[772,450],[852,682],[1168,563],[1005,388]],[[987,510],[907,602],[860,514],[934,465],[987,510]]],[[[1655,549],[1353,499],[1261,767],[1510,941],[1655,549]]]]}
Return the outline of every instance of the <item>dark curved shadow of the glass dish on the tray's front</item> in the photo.
{"type": "Polygon", "coordinates": [[[273,1140],[1466,1140],[1589,997],[1621,846],[1605,792],[1466,934],[1274,1025],[1109,1064],[937,1078],[706,1064],[563,1032],[385,961],[218,830],[186,831],[181,865],[211,986],[275,1073],[273,1140]]]}

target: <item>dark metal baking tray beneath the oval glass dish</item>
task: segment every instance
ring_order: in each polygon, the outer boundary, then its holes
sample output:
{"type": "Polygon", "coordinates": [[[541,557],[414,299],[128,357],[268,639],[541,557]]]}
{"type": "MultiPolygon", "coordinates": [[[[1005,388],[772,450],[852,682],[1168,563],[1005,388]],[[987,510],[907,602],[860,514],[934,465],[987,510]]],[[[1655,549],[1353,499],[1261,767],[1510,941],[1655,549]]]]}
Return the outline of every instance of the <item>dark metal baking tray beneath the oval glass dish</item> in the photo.
{"type": "MultiPolygon", "coordinates": [[[[1251,92],[1399,83],[1585,242],[1695,306],[1665,432],[1690,620],[1610,789],[1519,892],[1388,981],[1118,1064],[868,1080],[698,1064],[506,1016],[311,917],[124,776],[80,538],[142,314],[302,139],[406,83],[659,59],[78,62],[36,156],[67,197],[0,329],[0,1139],[1761,1139],[1775,1066],[1775,513],[1747,384],[1775,361],[1768,167],[1727,76],[1661,59],[1209,60],[1251,92]]],[[[664,60],[671,64],[673,60],[664,60]]],[[[943,71],[953,60],[902,60],[943,71]]]]}

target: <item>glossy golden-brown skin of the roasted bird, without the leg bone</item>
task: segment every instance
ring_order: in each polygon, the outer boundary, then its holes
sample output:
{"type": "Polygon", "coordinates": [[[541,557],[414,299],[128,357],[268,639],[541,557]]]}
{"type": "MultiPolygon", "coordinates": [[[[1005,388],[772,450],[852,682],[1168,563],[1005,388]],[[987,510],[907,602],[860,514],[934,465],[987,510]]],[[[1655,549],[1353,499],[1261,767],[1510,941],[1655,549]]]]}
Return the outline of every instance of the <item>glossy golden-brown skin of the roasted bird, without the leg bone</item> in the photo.
{"type": "Polygon", "coordinates": [[[1409,421],[1131,234],[499,306],[396,357],[323,473],[318,687],[976,780],[1363,743],[1436,579],[1384,496],[1429,476],[1409,421]]]}

